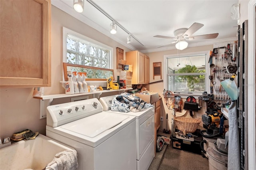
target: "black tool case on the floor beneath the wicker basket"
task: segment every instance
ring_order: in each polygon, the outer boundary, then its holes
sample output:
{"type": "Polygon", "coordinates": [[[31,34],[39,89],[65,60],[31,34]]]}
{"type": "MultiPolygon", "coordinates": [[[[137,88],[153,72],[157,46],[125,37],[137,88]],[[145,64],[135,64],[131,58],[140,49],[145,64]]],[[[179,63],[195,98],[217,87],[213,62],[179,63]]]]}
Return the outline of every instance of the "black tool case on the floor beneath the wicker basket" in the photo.
{"type": "Polygon", "coordinates": [[[172,138],[172,148],[179,149],[179,150],[186,150],[188,152],[193,152],[195,154],[201,155],[201,148],[200,148],[200,142],[203,140],[203,137],[200,135],[200,129],[196,129],[196,132],[192,133],[195,136],[194,141],[189,141],[180,138],[176,138],[176,133],[174,133],[172,138]],[[198,136],[198,137],[196,137],[198,136]]]}

